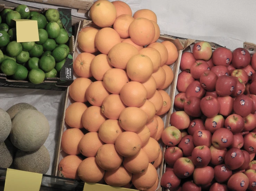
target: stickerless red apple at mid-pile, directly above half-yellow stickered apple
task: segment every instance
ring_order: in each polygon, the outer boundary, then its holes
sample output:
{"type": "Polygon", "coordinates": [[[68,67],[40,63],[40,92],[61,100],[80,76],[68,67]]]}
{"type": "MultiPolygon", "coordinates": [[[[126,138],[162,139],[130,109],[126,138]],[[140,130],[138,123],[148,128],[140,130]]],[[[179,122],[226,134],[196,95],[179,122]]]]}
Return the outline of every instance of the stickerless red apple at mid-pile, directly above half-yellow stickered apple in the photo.
{"type": "Polygon", "coordinates": [[[202,113],[209,118],[214,117],[220,111],[220,103],[217,98],[207,96],[202,98],[200,102],[200,108],[202,113]]]}

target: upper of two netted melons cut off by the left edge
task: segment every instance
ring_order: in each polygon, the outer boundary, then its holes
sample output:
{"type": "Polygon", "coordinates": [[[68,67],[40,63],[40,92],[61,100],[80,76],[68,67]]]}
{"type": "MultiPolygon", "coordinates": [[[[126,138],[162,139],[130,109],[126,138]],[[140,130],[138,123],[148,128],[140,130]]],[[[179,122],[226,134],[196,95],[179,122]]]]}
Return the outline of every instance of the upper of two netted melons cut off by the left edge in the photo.
{"type": "Polygon", "coordinates": [[[5,141],[11,131],[11,118],[8,113],[0,108],[0,143],[5,141]]]}

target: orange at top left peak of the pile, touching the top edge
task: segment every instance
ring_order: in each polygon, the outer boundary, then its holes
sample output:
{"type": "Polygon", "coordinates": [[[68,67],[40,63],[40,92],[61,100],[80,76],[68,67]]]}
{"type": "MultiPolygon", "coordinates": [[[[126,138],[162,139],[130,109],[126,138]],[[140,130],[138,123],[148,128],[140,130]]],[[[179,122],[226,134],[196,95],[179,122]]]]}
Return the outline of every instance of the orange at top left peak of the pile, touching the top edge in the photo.
{"type": "Polygon", "coordinates": [[[105,0],[98,0],[90,8],[90,18],[99,27],[110,27],[116,20],[115,6],[105,0]]]}

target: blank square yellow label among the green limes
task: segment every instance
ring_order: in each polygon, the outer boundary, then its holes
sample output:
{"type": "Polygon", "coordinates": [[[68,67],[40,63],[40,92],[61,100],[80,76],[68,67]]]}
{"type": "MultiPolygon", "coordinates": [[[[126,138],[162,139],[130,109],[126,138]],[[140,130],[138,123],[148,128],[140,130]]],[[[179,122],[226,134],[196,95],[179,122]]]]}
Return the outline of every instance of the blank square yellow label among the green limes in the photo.
{"type": "Polygon", "coordinates": [[[14,19],[16,21],[17,42],[39,41],[37,21],[14,19]]]}

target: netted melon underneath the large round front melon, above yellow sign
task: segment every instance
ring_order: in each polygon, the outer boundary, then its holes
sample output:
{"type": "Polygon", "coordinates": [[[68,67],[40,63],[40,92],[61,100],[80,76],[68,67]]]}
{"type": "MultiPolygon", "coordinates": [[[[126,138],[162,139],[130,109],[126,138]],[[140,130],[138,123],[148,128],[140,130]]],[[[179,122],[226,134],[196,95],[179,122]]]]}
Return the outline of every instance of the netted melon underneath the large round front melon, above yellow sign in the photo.
{"type": "Polygon", "coordinates": [[[44,145],[36,151],[18,150],[14,158],[15,169],[41,174],[49,170],[50,163],[50,154],[44,145]]]}

